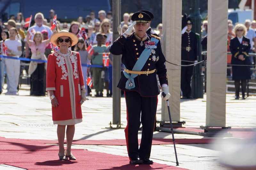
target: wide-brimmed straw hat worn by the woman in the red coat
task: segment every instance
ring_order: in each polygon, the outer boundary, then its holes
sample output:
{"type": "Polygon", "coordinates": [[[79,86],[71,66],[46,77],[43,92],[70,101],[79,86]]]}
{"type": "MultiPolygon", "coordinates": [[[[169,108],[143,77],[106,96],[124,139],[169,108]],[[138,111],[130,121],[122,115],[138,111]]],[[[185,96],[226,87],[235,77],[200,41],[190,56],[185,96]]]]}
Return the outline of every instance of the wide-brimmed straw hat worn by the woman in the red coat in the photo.
{"type": "Polygon", "coordinates": [[[52,37],[50,39],[51,43],[54,45],[58,45],[58,38],[65,36],[65,37],[69,37],[72,40],[72,44],[71,46],[74,46],[77,44],[78,42],[78,38],[75,34],[68,32],[67,30],[61,30],[58,33],[54,33],[52,34],[52,37]]]}

